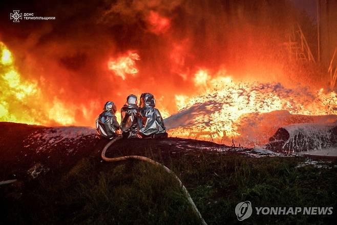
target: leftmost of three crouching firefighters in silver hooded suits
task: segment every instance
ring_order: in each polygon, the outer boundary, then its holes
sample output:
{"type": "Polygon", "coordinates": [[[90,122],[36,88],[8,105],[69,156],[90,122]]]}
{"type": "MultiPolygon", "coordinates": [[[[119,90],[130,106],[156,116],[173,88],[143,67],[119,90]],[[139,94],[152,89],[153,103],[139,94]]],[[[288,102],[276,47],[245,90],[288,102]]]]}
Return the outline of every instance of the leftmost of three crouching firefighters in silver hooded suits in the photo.
{"type": "Polygon", "coordinates": [[[112,101],[107,101],[103,112],[96,119],[96,131],[100,137],[112,139],[121,134],[120,126],[116,119],[116,106],[112,101]]]}

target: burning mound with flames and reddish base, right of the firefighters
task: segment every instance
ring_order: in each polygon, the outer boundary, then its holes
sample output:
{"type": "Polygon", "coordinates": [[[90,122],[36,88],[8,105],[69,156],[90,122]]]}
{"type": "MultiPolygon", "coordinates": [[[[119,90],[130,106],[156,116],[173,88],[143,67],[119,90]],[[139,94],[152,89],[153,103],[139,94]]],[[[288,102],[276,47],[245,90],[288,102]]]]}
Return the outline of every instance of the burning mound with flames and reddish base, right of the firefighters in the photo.
{"type": "Polygon", "coordinates": [[[179,113],[165,120],[172,136],[252,147],[266,144],[282,126],[337,120],[335,92],[289,89],[279,83],[235,83],[229,77],[208,84],[207,94],[186,99],[179,113]]]}

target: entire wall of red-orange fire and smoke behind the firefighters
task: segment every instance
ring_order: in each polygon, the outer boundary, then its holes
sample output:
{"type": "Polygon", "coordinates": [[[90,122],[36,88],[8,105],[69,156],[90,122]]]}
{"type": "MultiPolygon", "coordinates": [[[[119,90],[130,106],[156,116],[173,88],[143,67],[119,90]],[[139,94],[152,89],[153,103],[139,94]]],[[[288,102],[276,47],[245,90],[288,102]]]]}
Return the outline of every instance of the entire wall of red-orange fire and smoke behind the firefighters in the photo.
{"type": "Polygon", "coordinates": [[[172,136],[228,141],[275,111],[337,114],[328,74],[284,47],[301,22],[289,1],[63,4],[53,22],[1,22],[1,121],[93,127],[106,101],[143,92],[172,136]]]}

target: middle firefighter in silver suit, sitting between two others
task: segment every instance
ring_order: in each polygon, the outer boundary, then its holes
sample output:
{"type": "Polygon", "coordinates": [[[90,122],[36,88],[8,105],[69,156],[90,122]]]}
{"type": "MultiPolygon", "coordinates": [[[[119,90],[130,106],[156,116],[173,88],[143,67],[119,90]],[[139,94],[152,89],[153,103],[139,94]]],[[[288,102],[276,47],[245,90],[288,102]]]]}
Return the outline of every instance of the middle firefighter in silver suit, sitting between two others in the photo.
{"type": "Polygon", "coordinates": [[[137,96],[133,94],[129,95],[127,98],[127,103],[125,103],[125,105],[120,110],[120,125],[124,137],[140,137],[138,136],[138,114],[137,96]]]}

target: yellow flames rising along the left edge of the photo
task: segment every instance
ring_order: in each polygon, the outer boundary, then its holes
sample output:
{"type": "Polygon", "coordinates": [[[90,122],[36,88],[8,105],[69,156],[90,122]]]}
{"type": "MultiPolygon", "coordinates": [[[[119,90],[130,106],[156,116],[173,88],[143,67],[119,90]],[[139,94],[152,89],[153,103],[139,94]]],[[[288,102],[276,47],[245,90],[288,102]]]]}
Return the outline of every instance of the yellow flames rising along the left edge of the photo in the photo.
{"type": "Polygon", "coordinates": [[[37,125],[71,125],[74,115],[56,97],[50,103],[36,81],[25,81],[17,72],[11,52],[0,42],[0,120],[37,125]]]}

